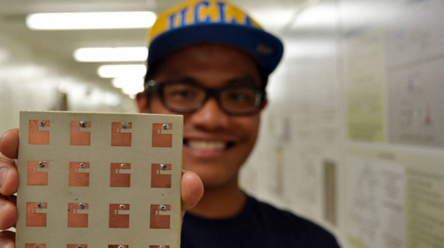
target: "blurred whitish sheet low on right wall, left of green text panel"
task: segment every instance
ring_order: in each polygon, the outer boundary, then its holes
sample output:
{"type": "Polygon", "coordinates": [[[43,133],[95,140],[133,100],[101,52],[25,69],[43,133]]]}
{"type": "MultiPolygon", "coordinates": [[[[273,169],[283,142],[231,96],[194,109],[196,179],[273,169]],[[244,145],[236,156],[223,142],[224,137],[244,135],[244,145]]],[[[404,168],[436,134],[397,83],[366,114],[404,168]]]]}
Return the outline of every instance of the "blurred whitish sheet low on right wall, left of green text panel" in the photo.
{"type": "Polygon", "coordinates": [[[349,244],[355,248],[405,248],[404,165],[353,155],[348,170],[349,244]]]}

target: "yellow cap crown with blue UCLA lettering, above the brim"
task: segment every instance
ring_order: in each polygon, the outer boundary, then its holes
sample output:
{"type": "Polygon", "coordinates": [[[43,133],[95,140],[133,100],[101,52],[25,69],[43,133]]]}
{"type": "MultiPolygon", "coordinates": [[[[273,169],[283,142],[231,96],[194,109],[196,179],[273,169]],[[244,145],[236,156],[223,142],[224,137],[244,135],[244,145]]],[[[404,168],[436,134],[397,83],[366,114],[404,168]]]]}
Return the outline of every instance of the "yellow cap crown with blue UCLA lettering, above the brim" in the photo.
{"type": "Polygon", "coordinates": [[[225,0],[191,0],[159,15],[148,34],[148,41],[178,27],[200,23],[235,23],[262,27],[240,8],[225,0]]]}

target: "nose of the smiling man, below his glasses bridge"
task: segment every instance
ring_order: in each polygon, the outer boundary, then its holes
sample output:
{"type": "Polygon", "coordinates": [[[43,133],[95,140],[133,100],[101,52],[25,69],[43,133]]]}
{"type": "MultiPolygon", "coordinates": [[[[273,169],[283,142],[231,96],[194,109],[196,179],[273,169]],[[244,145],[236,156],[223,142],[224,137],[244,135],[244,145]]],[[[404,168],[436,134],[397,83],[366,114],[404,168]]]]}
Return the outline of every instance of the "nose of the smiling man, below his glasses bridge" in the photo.
{"type": "Polygon", "coordinates": [[[229,117],[219,108],[216,99],[210,97],[201,109],[191,114],[190,121],[195,128],[215,131],[226,129],[229,125],[229,117]]]}

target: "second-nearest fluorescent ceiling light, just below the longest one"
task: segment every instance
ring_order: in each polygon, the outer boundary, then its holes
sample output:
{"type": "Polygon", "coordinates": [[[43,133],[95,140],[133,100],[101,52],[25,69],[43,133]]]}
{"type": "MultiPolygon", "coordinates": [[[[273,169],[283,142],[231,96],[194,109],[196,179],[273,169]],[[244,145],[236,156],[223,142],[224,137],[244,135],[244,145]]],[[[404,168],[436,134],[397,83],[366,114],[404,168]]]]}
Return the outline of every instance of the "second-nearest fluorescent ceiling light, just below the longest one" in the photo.
{"type": "Polygon", "coordinates": [[[143,46],[79,48],[73,55],[79,62],[145,61],[148,58],[148,48],[143,46]]]}

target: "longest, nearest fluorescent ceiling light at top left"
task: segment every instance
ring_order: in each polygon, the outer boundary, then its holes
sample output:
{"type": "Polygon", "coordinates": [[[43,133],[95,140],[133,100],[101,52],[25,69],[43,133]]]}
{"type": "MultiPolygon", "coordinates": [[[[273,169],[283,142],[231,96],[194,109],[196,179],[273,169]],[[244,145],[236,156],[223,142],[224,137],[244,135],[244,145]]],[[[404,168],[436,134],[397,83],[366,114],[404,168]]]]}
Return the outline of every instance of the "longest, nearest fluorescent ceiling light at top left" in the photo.
{"type": "Polygon", "coordinates": [[[26,25],[43,30],[149,28],[156,18],[151,11],[37,13],[26,17],[26,25]]]}

